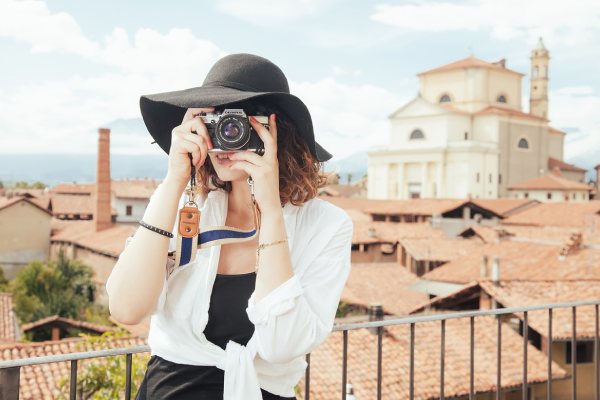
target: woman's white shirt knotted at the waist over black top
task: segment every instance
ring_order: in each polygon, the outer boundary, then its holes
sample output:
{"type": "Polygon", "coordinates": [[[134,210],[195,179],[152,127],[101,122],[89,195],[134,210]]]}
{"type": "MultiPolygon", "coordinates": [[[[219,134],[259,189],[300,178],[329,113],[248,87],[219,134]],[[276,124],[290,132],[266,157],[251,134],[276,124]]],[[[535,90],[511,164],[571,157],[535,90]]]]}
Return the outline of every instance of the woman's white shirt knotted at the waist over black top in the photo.
{"type": "MultiPolygon", "coordinates": [[[[200,226],[224,226],[227,196],[217,189],[199,197],[200,226]]],[[[180,199],[181,207],[186,199],[180,199]]],[[[304,374],[305,354],[331,332],[350,273],[352,220],[341,208],[319,198],[283,207],[294,275],[258,302],[254,293],[246,313],[254,333],[243,346],[230,340],[223,350],[208,341],[204,327],[221,245],[198,249],[196,259],[165,273],[150,320],[151,354],[171,362],[212,365],[224,370],[224,400],[262,400],[260,388],[294,397],[304,374]]],[[[175,222],[169,249],[176,248],[175,222]]],[[[265,262],[263,260],[262,262],[265,262]]],[[[106,283],[108,288],[110,276],[106,283]]]]}

